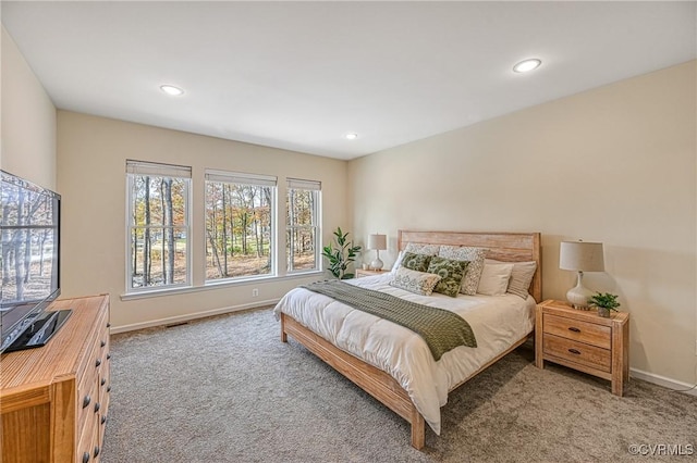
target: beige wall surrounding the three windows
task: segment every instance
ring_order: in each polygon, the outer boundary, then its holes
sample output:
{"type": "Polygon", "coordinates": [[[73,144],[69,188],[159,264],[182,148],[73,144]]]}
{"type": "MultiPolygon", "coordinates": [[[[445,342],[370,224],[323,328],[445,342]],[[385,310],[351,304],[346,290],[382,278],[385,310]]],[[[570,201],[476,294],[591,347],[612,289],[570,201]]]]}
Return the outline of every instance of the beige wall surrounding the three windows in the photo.
{"type": "MultiPolygon", "coordinates": [[[[66,111],[58,112],[58,186],[62,201],[63,296],[111,295],[111,323],[132,328],[273,302],[298,284],[320,276],[227,286],[217,289],[122,300],[125,291],[126,159],[193,167],[192,268],[204,281],[204,170],[279,177],[285,208],[285,177],[322,183],[323,238],[347,224],[345,161],[66,111]],[[252,297],[258,288],[259,296],[252,297]]],[[[284,242],[280,243],[284,247],[284,242]]],[[[323,262],[322,262],[323,266],[323,262]]]]}

